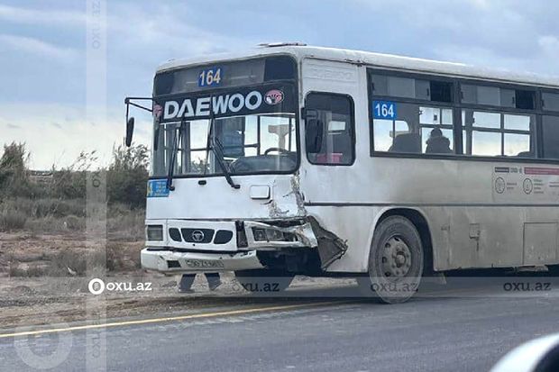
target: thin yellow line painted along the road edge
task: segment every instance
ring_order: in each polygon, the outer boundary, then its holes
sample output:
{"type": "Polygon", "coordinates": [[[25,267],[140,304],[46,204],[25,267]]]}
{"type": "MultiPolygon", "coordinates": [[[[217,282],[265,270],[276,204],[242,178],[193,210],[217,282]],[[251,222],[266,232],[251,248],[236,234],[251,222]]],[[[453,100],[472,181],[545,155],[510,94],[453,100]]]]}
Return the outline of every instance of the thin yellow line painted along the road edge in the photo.
{"type": "Polygon", "coordinates": [[[137,321],[124,321],[124,322],[110,322],[110,323],[103,323],[103,324],[87,324],[87,325],[78,325],[74,327],[67,327],[67,328],[55,328],[49,330],[37,330],[37,331],[22,331],[22,332],[14,332],[14,333],[5,333],[0,334],[0,339],[6,339],[9,337],[18,337],[18,336],[36,336],[46,333],[60,333],[60,332],[69,332],[69,331],[82,331],[82,330],[94,330],[98,328],[109,328],[109,327],[122,327],[125,325],[135,325],[135,324],[150,324],[150,323],[158,323],[158,322],[173,322],[173,321],[184,321],[190,319],[199,319],[199,318],[215,318],[217,316],[230,316],[230,315],[241,315],[246,313],[263,313],[263,312],[274,312],[280,310],[294,310],[304,307],[312,307],[312,306],[325,306],[329,304],[344,304],[343,302],[324,302],[324,303],[307,303],[307,304],[289,304],[289,305],[282,305],[282,306],[269,306],[269,307],[256,307],[252,309],[241,309],[241,310],[231,310],[228,312],[217,312],[217,313],[195,313],[190,315],[179,315],[179,316],[170,316],[165,318],[152,318],[152,319],[142,319],[137,321]]]}

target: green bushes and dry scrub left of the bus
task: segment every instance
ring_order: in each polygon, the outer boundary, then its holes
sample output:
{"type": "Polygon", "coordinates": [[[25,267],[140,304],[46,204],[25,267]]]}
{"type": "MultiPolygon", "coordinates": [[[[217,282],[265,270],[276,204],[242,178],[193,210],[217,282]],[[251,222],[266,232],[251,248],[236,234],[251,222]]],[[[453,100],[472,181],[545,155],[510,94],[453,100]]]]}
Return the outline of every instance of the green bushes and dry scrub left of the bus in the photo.
{"type": "MultiPolygon", "coordinates": [[[[113,150],[106,168],[108,229],[143,238],[143,207],[148,180],[149,151],[143,145],[113,150]]],[[[0,158],[0,229],[81,231],[85,228],[87,175],[96,152],[82,152],[69,167],[52,169],[50,183],[36,184],[27,168],[29,153],[23,143],[4,146],[0,158]]]]}

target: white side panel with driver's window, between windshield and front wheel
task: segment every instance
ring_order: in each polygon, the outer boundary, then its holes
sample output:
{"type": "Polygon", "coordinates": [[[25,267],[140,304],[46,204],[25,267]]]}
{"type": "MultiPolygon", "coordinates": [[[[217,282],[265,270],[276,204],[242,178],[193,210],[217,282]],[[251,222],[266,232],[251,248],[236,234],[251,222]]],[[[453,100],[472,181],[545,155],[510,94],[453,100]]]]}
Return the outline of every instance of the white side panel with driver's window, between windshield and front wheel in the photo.
{"type": "Polygon", "coordinates": [[[365,68],[304,59],[300,188],[306,211],[344,241],[327,271],[365,271],[372,209],[359,207],[370,184],[365,68]]]}

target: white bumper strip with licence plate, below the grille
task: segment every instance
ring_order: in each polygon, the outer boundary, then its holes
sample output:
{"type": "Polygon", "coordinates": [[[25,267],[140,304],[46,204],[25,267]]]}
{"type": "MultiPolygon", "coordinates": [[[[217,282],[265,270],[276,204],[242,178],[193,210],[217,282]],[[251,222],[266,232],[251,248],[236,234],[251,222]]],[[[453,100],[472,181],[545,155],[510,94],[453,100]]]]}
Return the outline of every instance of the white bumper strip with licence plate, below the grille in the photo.
{"type": "Polygon", "coordinates": [[[197,253],[146,248],[141,254],[142,268],[163,274],[202,273],[264,268],[256,250],[238,253],[197,253]]]}

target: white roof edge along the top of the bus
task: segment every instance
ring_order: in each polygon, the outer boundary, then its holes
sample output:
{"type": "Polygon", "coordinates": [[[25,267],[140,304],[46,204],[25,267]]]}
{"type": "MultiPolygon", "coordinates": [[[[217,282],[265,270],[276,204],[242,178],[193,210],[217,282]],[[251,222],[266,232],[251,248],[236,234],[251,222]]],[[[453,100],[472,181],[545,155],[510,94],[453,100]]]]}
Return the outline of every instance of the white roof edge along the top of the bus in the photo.
{"type": "Polygon", "coordinates": [[[244,50],[243,52],[212,54],[194,59],[171,59],[160,65],[158,72],[190,65],[205,64],[208,62],[265,57],[273,54],[289,54],[298,59],[314,58],[362,63],[377,68],[559,88],[559,77],[537,75],[527,72],[514,72],[504,69],[481,68],[463,63],[418,59],[361,50],[313,47],[298,43],[280,43],[277,44],[277,46],[274,44],[264,44],[258,48],[244,50]]]}

